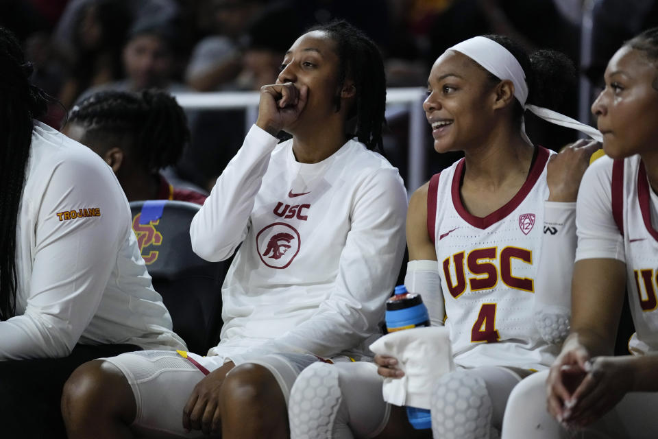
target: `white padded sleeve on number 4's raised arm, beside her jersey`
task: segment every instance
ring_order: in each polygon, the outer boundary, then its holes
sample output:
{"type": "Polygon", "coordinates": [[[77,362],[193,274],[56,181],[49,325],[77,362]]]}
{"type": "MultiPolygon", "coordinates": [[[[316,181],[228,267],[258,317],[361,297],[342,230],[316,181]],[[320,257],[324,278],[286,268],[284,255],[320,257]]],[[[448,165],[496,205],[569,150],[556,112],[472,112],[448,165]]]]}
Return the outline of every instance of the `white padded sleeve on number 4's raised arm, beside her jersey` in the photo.
{"type": "Polygon", "coordinates": [[[535,324],[546,342],[569,335],[576,255],[576,203],[544,202],[544,237],[535,284],[535,324]]]}

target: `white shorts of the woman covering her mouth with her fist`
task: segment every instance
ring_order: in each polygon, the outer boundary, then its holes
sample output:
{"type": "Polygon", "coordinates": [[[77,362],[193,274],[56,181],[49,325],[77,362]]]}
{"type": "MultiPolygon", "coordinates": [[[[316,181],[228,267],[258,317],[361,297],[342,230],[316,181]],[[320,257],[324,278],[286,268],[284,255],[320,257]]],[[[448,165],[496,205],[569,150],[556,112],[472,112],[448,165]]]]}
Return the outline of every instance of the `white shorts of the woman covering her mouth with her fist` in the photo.
{"type": "MultiPolygon", "coordinates": [[[[190,394],[208,373],[197,361],[172,351],[138,351],[103,360],[117,366],[132,388],[137,406],[132,427],[136,432],[158,437],[204,436],[196,430],[186,433],[182,423],[190,394]]],[[[314,355],[284,353],[264,355],[249,363],[271,372],[287,403],[297,375],[315,361],[319,359],[314,355]]]]}

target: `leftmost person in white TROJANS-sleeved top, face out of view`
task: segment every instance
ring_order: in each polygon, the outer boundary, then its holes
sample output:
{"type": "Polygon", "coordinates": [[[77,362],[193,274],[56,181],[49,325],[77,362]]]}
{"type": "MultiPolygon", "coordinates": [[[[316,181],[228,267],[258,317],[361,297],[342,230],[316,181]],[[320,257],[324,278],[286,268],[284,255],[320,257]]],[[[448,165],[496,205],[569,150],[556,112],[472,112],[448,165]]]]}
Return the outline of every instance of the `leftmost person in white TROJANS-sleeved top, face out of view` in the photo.
{"type": "Polygon", "coordinates": [[[184,342],[151,287],[117,178],[36,121],[51,98],[30,73],[0,27],[0,416],[8,437],[60,437],[62,385],[77,366],[184,342]]]}

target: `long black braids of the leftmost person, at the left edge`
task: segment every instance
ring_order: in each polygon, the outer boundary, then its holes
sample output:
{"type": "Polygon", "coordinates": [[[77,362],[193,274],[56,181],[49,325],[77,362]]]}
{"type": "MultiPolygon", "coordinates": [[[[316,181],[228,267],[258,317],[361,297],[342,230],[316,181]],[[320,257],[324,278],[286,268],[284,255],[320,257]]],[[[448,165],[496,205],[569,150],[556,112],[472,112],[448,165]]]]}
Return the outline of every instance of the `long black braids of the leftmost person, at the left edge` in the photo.
{"type": "Polygon", "coordinates": [[[0,320],[16,314],[16,222],[34,120],[54,102],[29,82],[32,64],[0,27],[0,320]]]}

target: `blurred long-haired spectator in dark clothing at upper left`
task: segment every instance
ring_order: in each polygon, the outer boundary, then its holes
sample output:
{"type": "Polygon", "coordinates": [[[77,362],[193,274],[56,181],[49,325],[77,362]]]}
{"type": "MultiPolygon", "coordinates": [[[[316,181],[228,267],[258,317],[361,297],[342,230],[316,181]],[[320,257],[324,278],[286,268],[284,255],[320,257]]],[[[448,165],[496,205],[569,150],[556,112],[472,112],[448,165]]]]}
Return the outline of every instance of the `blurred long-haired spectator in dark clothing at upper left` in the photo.
{"type": "Polygon", "coordinates": [[[125,1],[88,1],[77,10],[71,69],[60,102],[71,108],[80,93],[123,78],[121,50],[132,16],[125,1]]]}

